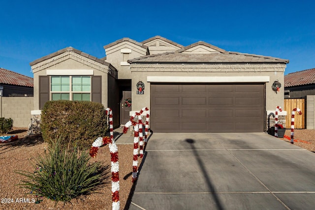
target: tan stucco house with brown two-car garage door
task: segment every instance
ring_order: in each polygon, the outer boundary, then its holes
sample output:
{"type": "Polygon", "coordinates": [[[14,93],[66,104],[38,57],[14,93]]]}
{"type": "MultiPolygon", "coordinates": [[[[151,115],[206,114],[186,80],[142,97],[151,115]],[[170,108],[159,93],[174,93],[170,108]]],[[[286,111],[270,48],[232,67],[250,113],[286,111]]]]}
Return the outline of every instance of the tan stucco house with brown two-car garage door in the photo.
{"type": "Polygon", "coordinates": [[[284,104],[272,84],[284,83],[288,60],[161,36],[123,38],[104,50],[97,59],[67,47],[31,62],[34,110],[48,100],[91,100],[113,109],[114,126],[148,107],[154,132],[264,132],[284,104]]]}

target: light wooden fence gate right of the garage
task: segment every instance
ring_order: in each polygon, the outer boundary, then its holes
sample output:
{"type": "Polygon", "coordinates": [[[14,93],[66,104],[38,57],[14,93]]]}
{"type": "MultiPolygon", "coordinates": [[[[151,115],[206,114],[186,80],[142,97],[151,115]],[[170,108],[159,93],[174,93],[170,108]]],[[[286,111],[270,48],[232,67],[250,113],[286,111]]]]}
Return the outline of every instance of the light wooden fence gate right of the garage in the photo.
{"type": "Polygon", "coordinates": [[[294,129],[305,129],[305,99],[284,99],[284,111],[287,112],[286,128],[291,128],[291,112],[294,108],[299,108],[302,112],[302,115],[295,112],[294,129]]]}

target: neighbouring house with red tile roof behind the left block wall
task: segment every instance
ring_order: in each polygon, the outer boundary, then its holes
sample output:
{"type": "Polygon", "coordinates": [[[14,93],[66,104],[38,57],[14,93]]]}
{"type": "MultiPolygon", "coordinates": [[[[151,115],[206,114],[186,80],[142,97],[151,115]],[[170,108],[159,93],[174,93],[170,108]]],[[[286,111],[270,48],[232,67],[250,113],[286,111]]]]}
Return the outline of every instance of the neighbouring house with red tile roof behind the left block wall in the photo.
{"type": "Polygon", "coordinates": [[[0,96],[33,96],[33,78],[0,68],[0,96]]]}

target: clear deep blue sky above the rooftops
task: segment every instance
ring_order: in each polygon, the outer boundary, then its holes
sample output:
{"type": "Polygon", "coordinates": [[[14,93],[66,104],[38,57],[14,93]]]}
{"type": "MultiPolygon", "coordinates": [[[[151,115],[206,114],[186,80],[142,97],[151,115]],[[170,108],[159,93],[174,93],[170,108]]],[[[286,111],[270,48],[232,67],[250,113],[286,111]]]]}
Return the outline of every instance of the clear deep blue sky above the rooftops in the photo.
{"type": "Polygon", "coordinates": [[[315,68],[313,0],[2,0],[0,67],[32,77],[30,62],[65,47],[97,58],[113,41],[156,35],[187,46],[288,59],[315,68]]]}

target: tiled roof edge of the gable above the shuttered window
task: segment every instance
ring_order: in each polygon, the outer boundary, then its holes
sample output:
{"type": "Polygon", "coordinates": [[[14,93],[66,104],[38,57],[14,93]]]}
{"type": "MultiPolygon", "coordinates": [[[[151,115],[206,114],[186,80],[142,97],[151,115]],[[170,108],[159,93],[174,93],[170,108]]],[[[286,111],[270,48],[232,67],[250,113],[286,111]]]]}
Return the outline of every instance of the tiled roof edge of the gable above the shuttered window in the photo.
{"type": "Polygon", "coordinates": [[[104,65],[107,65],[107,66],[110,65],[109,62],[106,62],[106,61],[104,61],[104,60],[98,59],[98,58],[96,58],[96,57],[94,57],[94,56],[91,56],[91,55],[89,55],[89,54],[87,54],[87,53],[84,53],[84,52],[82,52],[82,51],[80,51],[80,50],[77,50],[77,49],[75,49],[75,48],[73,48],[73,47],[66,47],[66,48],[63,48],[62,50],[58,50],[58,51],[55,52],[55,53],[52,53],[52,54],[49,54],[49,55],[47,55],[47,56],[44,56],[44,57],[42,57],[42,58],[40,58],[40,59],[34,60],[34,61],[32,61],[32,62],[30,63],[30,65],[31,65],[31,66],[32,66],[32,65],[35,65],[35,64],[37,64],[37,63],[39,63],[39,62],[42,62],[42,61],[44,61],[44,60],[51,59],[51,58],[53,58],[53,57],[55,57],[55,56],[59,56],[59,55],[65,53],[65,52],[69,52],[69,51],[72,51],[72,52],[74,52],[74,53],[76,53],[76,54],[78,54],[78,55],[80,55],[80,56],[83,56],[83,57],[86,57],[86,58],[88,58],[88,59],[94,60],[94,61],[99,62],[99,63],[101,63],[101,64],[104,64],[104,65]]]}

